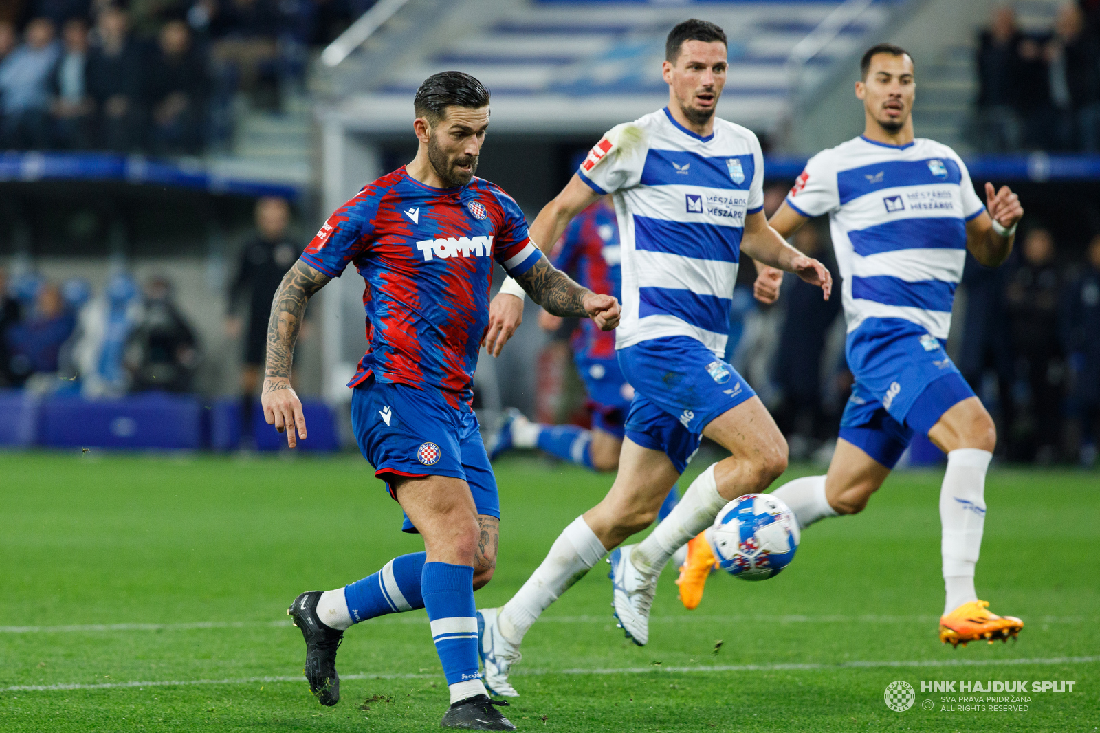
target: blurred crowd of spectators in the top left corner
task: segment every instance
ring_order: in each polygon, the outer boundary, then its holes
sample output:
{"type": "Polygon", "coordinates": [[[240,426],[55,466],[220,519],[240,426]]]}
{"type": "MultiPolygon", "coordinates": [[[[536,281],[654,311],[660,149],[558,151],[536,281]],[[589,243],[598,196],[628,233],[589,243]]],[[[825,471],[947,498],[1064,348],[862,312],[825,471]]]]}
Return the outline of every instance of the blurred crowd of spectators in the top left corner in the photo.
{"type": "Polygon", "coordinates": [[[375,0],[6,0],[0,146],[197,154],[375,0]]]}

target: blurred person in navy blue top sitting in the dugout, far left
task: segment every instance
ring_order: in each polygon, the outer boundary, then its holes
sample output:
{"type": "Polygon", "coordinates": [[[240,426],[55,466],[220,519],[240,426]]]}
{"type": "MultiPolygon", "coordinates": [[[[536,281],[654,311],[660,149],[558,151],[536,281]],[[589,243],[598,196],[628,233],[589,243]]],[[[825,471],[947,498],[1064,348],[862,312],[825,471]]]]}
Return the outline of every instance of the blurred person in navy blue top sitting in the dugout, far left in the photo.
{"type": "Polygon", "coordinates": [[[8,329],[9,371],[16,386],[36,373],[57,371],[62,344],[73,335],[76,317],[65,307],[61,288],[46,283],[38,288],[34,313],[8,329]]]}

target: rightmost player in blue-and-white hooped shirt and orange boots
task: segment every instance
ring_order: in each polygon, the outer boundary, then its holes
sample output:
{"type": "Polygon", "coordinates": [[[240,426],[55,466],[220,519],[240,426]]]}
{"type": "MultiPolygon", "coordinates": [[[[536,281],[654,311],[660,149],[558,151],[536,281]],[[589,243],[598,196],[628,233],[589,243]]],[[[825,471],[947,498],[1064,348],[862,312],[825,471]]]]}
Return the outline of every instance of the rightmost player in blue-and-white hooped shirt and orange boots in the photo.
{"type": "MultiPolygon", "coordinates": [[[[990,183],[983,206],[955,151],[914,138],[914,68],[905,51],[875,46],[861,72],[856,96],[866,111],[864,134],[812,157],[771,218],[789,237],[807,218],[829,215],[856,376],[828,474],[796,479],[774,493],[803,528],[855,514],[912,436],[927,435],[947,453],[939,637],[956,645],[1008,638],[1023,622],[991,613],[974,586],[997,430],[944,346],[967,250],[983,265],[1004,262],[1023,208],[1007,186],[997,192],[990,183]]],[[[778,296],[781,274],[760,273],[760,299],[778,296]]],[[[689,565],[705,560],[690,557],[689,565]]]]}

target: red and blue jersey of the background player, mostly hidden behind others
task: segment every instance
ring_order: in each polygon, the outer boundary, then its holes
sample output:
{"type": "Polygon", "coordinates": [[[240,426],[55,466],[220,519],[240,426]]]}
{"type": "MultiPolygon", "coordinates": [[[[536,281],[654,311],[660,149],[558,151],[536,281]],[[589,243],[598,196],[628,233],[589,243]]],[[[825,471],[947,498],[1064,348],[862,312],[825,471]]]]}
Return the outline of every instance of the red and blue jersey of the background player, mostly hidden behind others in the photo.
{"type": "MultiPolygon", "coordinates": [[[[618,221],[606,199],[573,218],[550,256],[554,266],[593,293],[623,297],[618,221]]],[[[584,319],[573,335],[573,351],[587,359],[614,359],[615,331],[602,331],[592,319],[584,319]]]]}

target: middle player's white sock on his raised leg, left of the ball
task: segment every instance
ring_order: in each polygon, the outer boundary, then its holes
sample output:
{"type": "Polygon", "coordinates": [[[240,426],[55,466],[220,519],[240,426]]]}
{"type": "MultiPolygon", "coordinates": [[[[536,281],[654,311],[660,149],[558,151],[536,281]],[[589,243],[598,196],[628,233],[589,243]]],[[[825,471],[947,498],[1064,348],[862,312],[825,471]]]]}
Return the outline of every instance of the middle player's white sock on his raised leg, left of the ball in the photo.
{"type": "Polygon", "coordinates": [[[691,482],[680,503],[630,553],[630,562],[638,572],[647,576],[660,573],[672,554],[710,527],[722,507],[729,503],[718,493],[718,484],[714,480],[715,466],[717,463],[712,463],[691,482]]]}

